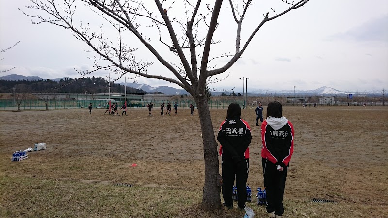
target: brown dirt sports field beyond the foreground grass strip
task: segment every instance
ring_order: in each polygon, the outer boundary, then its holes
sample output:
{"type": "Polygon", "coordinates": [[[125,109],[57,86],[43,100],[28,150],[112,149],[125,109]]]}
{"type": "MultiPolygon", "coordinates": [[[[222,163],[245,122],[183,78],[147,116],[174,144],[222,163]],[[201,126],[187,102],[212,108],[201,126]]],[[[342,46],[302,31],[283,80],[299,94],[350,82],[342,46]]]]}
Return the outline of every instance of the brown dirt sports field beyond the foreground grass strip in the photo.
{"type": "MultiPolygon", "coordinates": [[[[88,111],[0,112],[0,179],[160,185],[202,192],[203,145],[196,109],[194,116],[189,108],[179,108],[178,116],[174,111],[161,116],[153,109],[152,117],[147,109],[128,109],[128,116],[104,115],[105,109],[88,111]],[[14,151],[40,142],[46,143],[46,150],[11,162],[14,151]],[[131,167],[133,163],[137,166],[131,167]]],[[[210,113],[217,136],[226,109],[210,113]]],[[[264,117],[265,113],[266,106],[264,117]]],[[[295,128],[285,199],[368,205],[373,210],[368,216],[352,212],[350,217],[388,217],[388,107],[285,106],[283,115],[295,128]]],[[[253,135],[247,184],[254,190],[263,187],[255,117],[254,109],[242,109],[253,135]]],[[[11,210],[15,196],[4,189],[0,196],[0,209],[11,210]]],[[[293,217],[290,209],[284,217],[293,217]]]]}

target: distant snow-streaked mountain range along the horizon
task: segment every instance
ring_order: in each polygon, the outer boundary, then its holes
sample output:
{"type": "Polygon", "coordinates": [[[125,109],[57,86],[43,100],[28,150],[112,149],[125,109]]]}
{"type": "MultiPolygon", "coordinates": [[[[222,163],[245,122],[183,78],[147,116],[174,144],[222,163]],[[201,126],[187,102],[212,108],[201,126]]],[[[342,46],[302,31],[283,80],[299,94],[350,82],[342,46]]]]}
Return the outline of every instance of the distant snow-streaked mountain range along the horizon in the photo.
{"type": "MultiPolygon", "coordinates": [[[[63,78],[54,78],[54,79],[50,79],[50,80],[53,80],[53,81],[59,81],[61,79],[66,79],[66,78],[69,78],[69,77],[63,77],[63,78]]],[[[7,75],[7,76],[2,76],[0,77],[0,79],[3,79],[3,80],[7,80],[7,81],[17,81],[17,80],[29,80],[29,81],[32,81],[32,80],[46,80],[46,79],[43,79],[43,78],[40,78],[38,76],[23,76],[23,75],[18,75],[18,74],[10,74],[10,75],[7,75]]],[[[144,90],[148,93],[153,93],[153,92],[161,92],[161,93],[165,93],[165,94],[168,94],[168,95],[184,95],[184,94],[187,94],[189,95],[189,93],[184,90],[184,89],[176,89],[176,88],[173,88],[173,87],[169,87],[169,86],[158,86],[158,87],[152,87],[150,85],[147,85],[147,84],[139,84],[139,83],[124,83],[124,82],[121,82],[121,83],[117,83],[117,84],[120,84],[120,85],[126,85],[128,87],[133,87],[135,89],[141,89],[141,90],[144,90]]],[[[230,93],[232,93],[233,91],[231,92],[211,92],[212,95],[221,95],[221,93],[225,93],[227,95],[229,95],[230,93]]],[[[242,94],[242,92],[240,91],[234,91],[236,94],[237,93],[240,93],[242,94]]],[[[330,95],[330,94],[355,94],[355,93],[352,93],[352,92],[343,92],[343,91],[339,91],[339,90],[336,90],[336,89],[333,89],[333,88],[330,88],[330,87],[327,87],[327,86],[323,86],[323,87],[320,87],[318,89],[314,89],[314,90],[295,90],[295,91],[291,91],[291,90],[255,90],[255,93],[253,92],[249,92],[248,91],[248,95],[259,95],[259,94],[266,94],[266,93],[271,93],[271,94],[287,94],[287,95],[292,95],[292,94],[297,94],[297,95],[301,95],[301,94],[309,94],[309,95],[330,95]]],[[[372,94],[372,93],[363,93],[363,92],[359,92],[358,94],[372,94]]]]}

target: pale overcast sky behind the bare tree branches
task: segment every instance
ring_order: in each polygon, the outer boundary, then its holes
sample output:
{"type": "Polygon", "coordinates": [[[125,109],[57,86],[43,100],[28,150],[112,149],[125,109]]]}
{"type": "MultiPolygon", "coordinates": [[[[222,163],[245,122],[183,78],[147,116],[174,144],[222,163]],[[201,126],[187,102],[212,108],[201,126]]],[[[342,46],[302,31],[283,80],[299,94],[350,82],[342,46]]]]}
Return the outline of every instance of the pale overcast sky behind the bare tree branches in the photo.
{"type": "MultiPolygon", "coordinates": [[[[171,2],[172,0],[167,0],[171,2]]],[[[151,2],[151,1],[150,1],[151,2]]],[[[212,0],[204,0],[205,3],[212,0]]],[[[252,33],[265,12],[271,7],[277,13],[288,6],[281,0],[263,0],[248,9],[242,23],[242,41],[252,33]]],[[[152,3],[152,2],[151,2],[152,3]]],[[[44,79],[71,77],[80,75],[73,69],[93,69],[93,54],[83,42],[72,36],[71,32],[52,24],[34,25],[31,18],[23,15],[22,8],[31,15],[38,11],[26,10],[31,5],[28,0],[0,0],[0,49],[21,41],[16,47],[0,53],[0,70],[15,69],[0,73],[39,76],[44,79]]],[[[150,8],[152,9],[152,8],[150,8]]],[[[156,10],[153,10],[157,12],[156,10]]],[[[178,4],[169,10],[169,16],[184,16],[184,10],[178,4]]],[[[44,15],[44,14],[39,14],[44,15]]],[[[88,8],[77,7],[77,19],[98,27],[103,20],[88,8]]],[[[270,13],[270,16],[274,13],[270,13]]],[[[219,17],[219,27],[214,39],[222,42],[212,45],[211,55],[233,53],[237,24],[232,19],[228,1],[224,0],[219,17]]],[[[77,20],[79,21],[79,20],[77,20]]],[[[185,21],[184,21],[185,23],[185,21]]],[[[107,24],[104,24],[106,27],[107,24]]],[[[151,37],[155,31],[141,29],[144,35],[151,37]]],[[[164,31],[167,32],[167,31],[164,31]]],[[[180,30],[176,30],[180,33],[180,30]]],[[[205,32],[202,30],[202,33],[205,32]]],[[[139,48],[139,57],[147,59],[150,53],[139,45],[133,35],[127,33],[128,40],[139,48]]],[[[131,45],[132,45],[131,44],[131,45]]],[[[174,56],[158,38],[151,41],[158,52],[167,60],[174,56]]],[[[199,53],[199,52],[198,52],[199,53]]],[[[188,56],[189,57],[189,56],[188,56]]],[[[171,59],[170,59],[171,58],[171,59]]],[[[174,75],[156,61],[148,73],[174,78],[174,75]]],[[[212,61],[217,68],[229,58],[212,61]]],[[[210,65],[211,65],[210,64],[210,65]]],[[[255,35],[242,58],[224,74],[214,78],[225,80],[211,84],[213,89],[233,88],[242,90],[242,80],[248,77],[248,92],[254,90],[312,90],[322,86],[339,91],[376,91],[388,89],[388,0],[310,0],[297,10],[265,23],[255,35]]],[[[107,77],[106,71],[99,71],[90,77],[107,77]]],[[[114,78],[114,75],[111,74],[114,78]]],[[[128,75],[133,78],[133,75],[128,75]]],[[[127,82],[132,80],[127,79],[127,82]]],[[[150,78],[138,78],[139,83],[151,86],[167,85],[180,88],[169,82],[150,78]]],[[[124,82],[124,78],[119,80],[124,82]]]]}

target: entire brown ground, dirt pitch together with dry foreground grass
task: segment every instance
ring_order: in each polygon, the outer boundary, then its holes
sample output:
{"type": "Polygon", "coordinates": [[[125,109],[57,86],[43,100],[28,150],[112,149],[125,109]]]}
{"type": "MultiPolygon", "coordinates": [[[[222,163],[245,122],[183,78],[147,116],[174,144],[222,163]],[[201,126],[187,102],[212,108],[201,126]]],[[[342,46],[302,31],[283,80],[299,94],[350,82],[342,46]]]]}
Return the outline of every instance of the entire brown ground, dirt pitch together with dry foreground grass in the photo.
{"type": "MultiPolygon", "coordinates": [[[[204,161],[196,110],[104,112],[0,112],[0,217],[243,217],[237,209],[199,207],[204,161]],[[39,142],[47,149],[11,162],[12,152],[39,142]]],[[[210,112],[217,134],[226,109],[210,112]]],[[[295,128],[284,218],[388,217],[388,107],[285,106],[283,115],[295,128]]],[[[248,185],[256,190],[263,187],[260,129],[254,109],[242,109],[242,118],[253,134],[248,185]]],[[[263,207],[247,205],[255,218],[266,217],[263,207]]]]}

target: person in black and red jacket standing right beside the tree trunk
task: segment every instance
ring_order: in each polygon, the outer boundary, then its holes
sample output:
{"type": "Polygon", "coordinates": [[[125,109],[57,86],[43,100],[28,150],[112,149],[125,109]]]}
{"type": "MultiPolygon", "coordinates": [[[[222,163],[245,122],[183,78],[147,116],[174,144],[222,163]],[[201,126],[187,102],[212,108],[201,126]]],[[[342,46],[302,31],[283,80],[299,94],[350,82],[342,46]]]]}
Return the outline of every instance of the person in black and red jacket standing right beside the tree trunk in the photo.
{"type": "Polygon", "coordinates": [[[233,208],[233,185],[236,178],[237,204],[241,210],[246,202],[246,181],[249,174],[249,144],[252,140],[248,122],[241,119],[237,103],[229,105],[226,120],[221,123],[217,139],[222,157],[222,195],[224,206],[233,208]]]}

